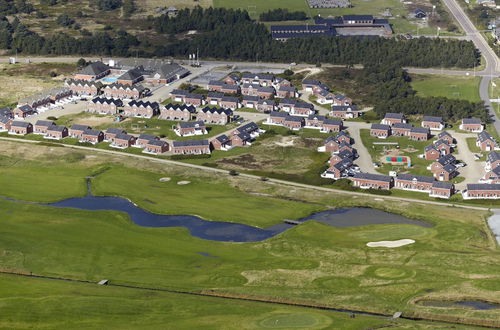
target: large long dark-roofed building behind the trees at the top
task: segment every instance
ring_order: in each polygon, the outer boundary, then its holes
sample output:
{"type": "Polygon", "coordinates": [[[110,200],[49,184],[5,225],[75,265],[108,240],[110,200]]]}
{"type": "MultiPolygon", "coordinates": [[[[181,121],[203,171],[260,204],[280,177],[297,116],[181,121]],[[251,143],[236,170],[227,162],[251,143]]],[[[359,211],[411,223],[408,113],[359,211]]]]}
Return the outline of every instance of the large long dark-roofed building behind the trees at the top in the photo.
{"type": "Polygon", "coordinates": [[[392,28],[387,19],[372,15],[344,15],[340,18],[314,19],[313,25],[272,25],[271,34],[276,40],[314,36],[387,36],[392,28]]]}

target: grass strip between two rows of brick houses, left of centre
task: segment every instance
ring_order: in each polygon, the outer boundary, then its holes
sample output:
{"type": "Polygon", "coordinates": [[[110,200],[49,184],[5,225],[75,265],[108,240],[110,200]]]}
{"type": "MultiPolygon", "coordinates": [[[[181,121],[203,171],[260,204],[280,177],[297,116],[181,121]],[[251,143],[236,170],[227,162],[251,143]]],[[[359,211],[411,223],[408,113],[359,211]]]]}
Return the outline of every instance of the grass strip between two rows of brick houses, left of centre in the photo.
{"type": "Polygon", "coordinates": [[[106,130],[109,127],[121,128],[131,134],[153,134],[164,136],[170,140],[192,140],[209,138],[237,126],[236,123],[228,125],[207,125],[208,134],[196,137],[180,137],[175,134],[172,127],[178,122],[170,120],[160,120],[157,117],[151,119],[126,118],[122,122],[114,122],[112,116],[94,115],[88,112],[81,112],[76,115],[62,116],[57,119],[58,125],[71,126],[73,124],[89,125],[92,128],[106,130]]]}

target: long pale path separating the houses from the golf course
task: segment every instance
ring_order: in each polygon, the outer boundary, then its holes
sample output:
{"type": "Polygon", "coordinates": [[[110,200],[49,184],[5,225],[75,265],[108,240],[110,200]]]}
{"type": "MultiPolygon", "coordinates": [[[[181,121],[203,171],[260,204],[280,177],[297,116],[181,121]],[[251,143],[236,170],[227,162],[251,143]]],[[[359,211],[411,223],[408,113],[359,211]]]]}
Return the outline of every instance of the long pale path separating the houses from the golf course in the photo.
{"type": "MultiPolygon", "coordinates": [[[[17,143],[32,143],[32,144],[38,144],[38,143],[43,142],[43,141],[22,140],[22,139],[16,139],[16,138],[8,138],[8,137],[0,137],[0,140],[17,142],[17,143]]],[[[222,170],[222,169],[212,168],[212,167],[205,167],[205,166],[189,164],[189,163],[183,163],[183,162],[169,160],[169,159],[160,159],[160,158],[154,158],[154,157],[148,157],[148,156],[142,156],[142,155],[136,155],[136,154],[129,154],[129,153],[124,153],[124,152],[119,152],[119,151],[114,151],[114,150],[97,149],[97,148],[84,147],[84,146],[65,145],[65,144],[61,144],[61,146],[65,147],[65,148],[69,148],[69,149],[78,149],[78,150],[85,150],[85,151],[94,152],[94,153],[104,153],[104,154],[117,155],[117,156],[122,156],[122,157],[131,157],[131,158],[143,159],[143,160],[148,160],[148,161],[152,161],[152,162],[156,162],[156,163],[161,163],[161,164],[165,164],[165,165],[182,166],[182,167],[193,168],[193,169],[202,170],[202,171],[221,173],[221,174],[225,174],[225,175],[229,174],[229,171],[227,171],[227,170],[222,170]]],[[[241,177],[245,177],[245,178],[249,178],[249,179],[253,179],[253,180],[259,180],[260,182],[262,182],[261,181],[262,177],[257,176],[257,175],[244,174],[244,173],[241,173],[239,175],[241,177]]],[[[426,201],[426,200],[404,198],[404,197],[370,195],[370,194],[366,194],[366,193],[359,193],[359,192],[353,192],[353,191],[345,191],[345,190],[337,190],[337,189],[332,189],[332,188],[318,187],[318,186],[312,186],[312,185],[297,183],[297,182],[292,182],[292,181],[279,180],[279,179],[269,178],[269,180],[267,182],[283,184],[283,185],[297,187],[297,188],[305,188],[305,189],[312,189],[312,190],[324,191],[324,192],[329,192],[329,193],[337,193],[337,194],[341,194],[341,195],[358,196],[358,197],[365,197],[365,198],[372,197],[372,198],[378,198],[379,200],[391,200],[391,201],[421,203],[421,204],[437,205],[437,206],[445,206],[445,207],[460,207],[460,208],[465,208],[465,209],[481,210],[481,211],[488,211],[489,210],[489,208],[479,207],[479,206],[451,204],[451,203],[445,203],[445,202],[426,201]]]]}

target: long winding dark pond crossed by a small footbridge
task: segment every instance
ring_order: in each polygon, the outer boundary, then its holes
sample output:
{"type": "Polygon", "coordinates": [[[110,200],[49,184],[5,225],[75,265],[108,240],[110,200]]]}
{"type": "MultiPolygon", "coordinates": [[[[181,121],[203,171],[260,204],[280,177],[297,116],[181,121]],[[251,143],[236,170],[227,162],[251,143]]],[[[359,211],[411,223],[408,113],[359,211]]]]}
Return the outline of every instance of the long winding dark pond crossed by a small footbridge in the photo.
{"type": "MultiPolygon", "coordinates": [[[[274,237],[294,225],[280,223],[268,228],[257,228],[239,224],[238,219],[231,222],[208,221],[192,215],[162,215],[148,212],[129,200],[120,197],[85,197],[70,198],[60,202],[45,204],[53,207],[69,207],[80,210],[111,210],[127,213],[133,223],[144,227],[184,227],[191,235],[202,239],[223,242],[256,242],[274,237]]],[[[302,223],[315,220],[339,228],[373,224],[411,224],[430,227],[431,225],[370,208],[340,208],[311,214],[297,220],[302,223]]]]}

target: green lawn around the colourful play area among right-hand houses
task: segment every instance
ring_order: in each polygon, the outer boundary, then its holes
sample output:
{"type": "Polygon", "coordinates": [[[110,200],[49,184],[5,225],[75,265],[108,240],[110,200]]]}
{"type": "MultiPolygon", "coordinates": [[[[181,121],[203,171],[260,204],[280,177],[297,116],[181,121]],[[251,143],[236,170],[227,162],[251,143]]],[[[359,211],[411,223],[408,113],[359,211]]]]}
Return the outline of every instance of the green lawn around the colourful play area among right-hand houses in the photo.
{"type": "Polygon", "coordinates": [[[379,162],[382,164],[382,158],[384,156],[396,156],[396,154],[388,154],[389,149],[398,152],[397,156],[407,156],[410,157],[412,166],[410,168],[405,166],[394,166],[391,164],[383,164],[381,167],[377,168],[377,171],[383,174],[388,174],[389,171],[397,171],[398,173],[411,173],[415,175],[431,175],[431,172],[427,170],[432,162],[418,158],[418,155],[423,154],[425,146],[431,144],[431,141],[412,141],[408,137],[398,137],[390,136],[387,139],[377,139],[370,136],[369,129],[362,129],[360,131],[361,140],[368,152],[372,156],[374,162],[379,162]],[[399,149],[395,149],[395,146],[384,146],[384,145],[374,145],[374,142],[397,142],[399,149]]]}

